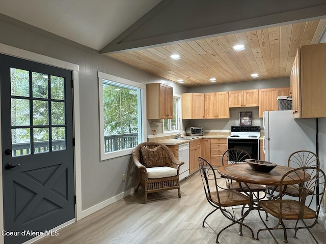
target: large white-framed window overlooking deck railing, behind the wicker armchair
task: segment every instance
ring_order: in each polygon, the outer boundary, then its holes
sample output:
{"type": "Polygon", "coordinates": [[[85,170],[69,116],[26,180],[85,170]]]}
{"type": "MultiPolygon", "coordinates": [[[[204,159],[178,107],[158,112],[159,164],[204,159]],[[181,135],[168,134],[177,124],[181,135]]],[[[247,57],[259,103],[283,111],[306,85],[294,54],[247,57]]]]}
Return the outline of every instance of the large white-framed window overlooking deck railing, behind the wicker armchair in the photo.
{"type": "Polygon", "coordinates": [[[101,160],[132,153],[146,129],[144,84],[98,72],[101,160]]]}

